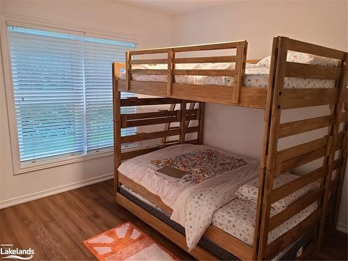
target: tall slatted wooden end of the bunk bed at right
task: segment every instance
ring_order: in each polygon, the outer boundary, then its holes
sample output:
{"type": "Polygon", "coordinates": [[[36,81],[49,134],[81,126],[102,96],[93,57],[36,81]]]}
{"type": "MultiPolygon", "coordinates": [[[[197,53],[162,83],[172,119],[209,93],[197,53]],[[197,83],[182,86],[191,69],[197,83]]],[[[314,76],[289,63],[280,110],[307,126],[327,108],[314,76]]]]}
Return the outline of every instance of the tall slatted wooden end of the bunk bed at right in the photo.
{"type": "MultiPolygon", "coordinates": [[[[333,193],[331,186],[342,189],[342,181],[347,164],[347,53],[318,45],[308,44],[285,37],[274,38],[271,58],[269,86],[271,94],[267,97],[267,110],[264,130],[264,148],[260,171],[258,209],[255,230],[260,230],[260,239],[255,233],[255,256],[260,260],[274,258],[277,253],[296,241],[303,232],[316,227],[315,242],[320,246],[324,233],[326,216],[329,214],[329,196],[335,205],[333,223],[337,219],[340,191],[333,193]],[[339,60],[338,67],[309,65],[287,62],[287,51],[306,52],[339,60]],[[323,89],[284,89],[285,77],[332,79],[335,88],[323,89]],[[331,109],[329,115],[280,123],[281,113],[287,109],[326,105],[331,109]],[[342,126],[343,125],[343,126],[342,126]],[[278,150],[278,140],[289,136],[310,132],[316,129],[328,129],[327,135],[314,141],[308,141],[290,148],[278,150]],[[339,157],[335,160],[335,152],[339,157]],[[296,180],[274,188],[274,179],[293,168],[303,166],[322,158],[322,165],[296,180]],[[333,171],[338,171],[331,181],[333,171]],[[313,182],[321,184],[317,189],[302,196],[289,207],[274,216],[270,216],[271,204],[285,198],[295,191],[313,182]],[[332,199],[336,194],[336,199],[332,199]],[[309,205],[317,202],[317,210],[303,219],[294,228],[267,243],[271,230],[298,214],[309,205]]],[[[332,226],[335,226],[333,224],[332,226]]]]}

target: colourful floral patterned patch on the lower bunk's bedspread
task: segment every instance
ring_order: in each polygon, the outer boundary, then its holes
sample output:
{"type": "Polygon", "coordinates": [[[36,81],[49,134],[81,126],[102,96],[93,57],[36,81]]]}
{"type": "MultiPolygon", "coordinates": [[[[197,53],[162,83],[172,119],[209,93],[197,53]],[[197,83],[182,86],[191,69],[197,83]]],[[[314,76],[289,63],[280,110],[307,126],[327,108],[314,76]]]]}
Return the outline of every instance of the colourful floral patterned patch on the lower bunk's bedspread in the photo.
{"type": "Polygon", "coordinates": [[[223,155],[217,150],[212,149],[187,152],[164,159],[154,159],[151,163],[155,164],[158,168],[171,166],[173,168],[179,168],[182,171],[187,171],[190,175],[187,175],[184,179],[193,182],[193,184],[198,184],[203,180],[248,164],[241,157],[223,155]]]}

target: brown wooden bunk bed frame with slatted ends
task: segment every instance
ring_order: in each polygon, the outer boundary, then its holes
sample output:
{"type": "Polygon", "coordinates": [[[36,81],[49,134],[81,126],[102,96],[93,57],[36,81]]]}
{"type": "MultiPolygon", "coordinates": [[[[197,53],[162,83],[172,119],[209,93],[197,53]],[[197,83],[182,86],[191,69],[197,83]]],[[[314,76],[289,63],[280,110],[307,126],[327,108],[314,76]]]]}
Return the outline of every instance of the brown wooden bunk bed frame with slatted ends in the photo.
{"type": "MultiPolygon", "coordinates": [[[[245,87],[243,85],[246,68],[247,42],[224,42],[209,45],[193,45],[184,47],[168,47],[160,49],[144,49],[126,53],[126,63],[113,63],[113,105],[114,105],[114,140],[115,140],[115,200],[130,212],[139,216],[150,226],[171,239],[184,250],[188,250],[185,237],[180,232],[168,226],[167,223],[146,211],[120,193],[121,184],[143,196],[151,203],[159,206],[167,213],[171,207],[162,202],[159,196],[151,193],[145,187],[132,181],[118,167],[122,160],[161,148],[180,144],[203,144],[205,102],[244,106],[264,110],[264,138],[260,162],[259,193],[253,246],[216,228],[209,226],[205,237],[219,247],[232,253],[242,260],[269,260],[288,246],[296,242],[308,231],[315,231],[310,244],[304,246],[303,258],[316,247],[320,247],[326,232],[335,228],[340,205],[342,182],[347,164],[347,53],[335,49],[312,45],[285,37],[273,40],[269,84],[267,88],[245,87]],[[234,56],[205,56],[177,58],[183,52],[212,51],[219,49],[235,50],[234,56]],[[295,51],[338,59],[338,67],[292,63],[287,61],[287,52],[295,51]],[[165,54],[166,58],[138,58],[141,55],[156,56],[165,54]],[[235,62],[234,70],[177,70],[179,63],[226,63],[235,62]],[[135,70],[132,65],[145,63],[166,64],[166,70],[135,70]],[[120,69],[126,69],[126,79],[120,79],[120,69]],[[135,81],[134,74],[165,74],[166,82],[135,81]],[[233,86],[179,84],[175,75],[205,75],[234,77],[233,86]],[[285,77],[333,79],[335,88],[284,88],[285,77]],[[120,92],[153,95],[152,98],[120,99],[120,92]],[[198,106],[187,109],[187,103],[196,102],[198,106]],[[123,106],[146,106],[154,104],[180,104],[180,109],[156,111],[147,113],[121,114],[123,106]],[[330,113],[316,118],[306,118],[284,122],[282,113],[291,109],[309,108],[327,105],[330,113]],[[189,125],[190,120],[196,120],[197,125],[189,125]],[[169,127],[171,122],[179,122],[179,127],[169,127]],[[139,133],[132,136],[121,136],[121,128],[166,124],[163,131],[139,133]],[[327,134],[314,141],[306,141],[299,145],[279,149],[278,141],[286,137],[311,132],[317,129],[327,129],[327,134]],[[187,141],[187,134],[196,133],[196,139],[187,141]],[[179,136],[177,142],[159,143],[152,148],[139,148],[132,151],[121,151],[122,143],[139,142],[150,139],[166,141],[168,136],[179,136]],[[281,187],[274,189],[274,179],[293,168],[309,164],[317,159],[323,159],[321,166],[301,175],[281,187]],[[333,178],[333,173],[335,176],[333,178]],[[294,191],[305,187],[311,182],[319,181],[320,186],[315,191],[306,194],[282,212],[271,216],[271,205],[294,191]],[[276,240],[267,244],[269,231],[276,228],[296,213],[318,202],[317,209],[306,219],[288,230],[276,240]]],[[[205,248],[197,245],[189,252],[199,260],[216,260],[216,256],[205,248]]]]}

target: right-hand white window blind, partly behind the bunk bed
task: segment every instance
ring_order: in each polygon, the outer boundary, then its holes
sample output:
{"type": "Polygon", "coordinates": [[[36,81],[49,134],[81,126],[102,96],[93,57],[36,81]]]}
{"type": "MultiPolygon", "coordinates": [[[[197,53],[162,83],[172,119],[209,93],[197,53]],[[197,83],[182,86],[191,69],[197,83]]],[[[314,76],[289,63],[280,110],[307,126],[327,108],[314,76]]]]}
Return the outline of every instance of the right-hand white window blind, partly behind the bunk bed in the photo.
{"type": "MultiPolygon", "coordinates": [[[[84,38],[84,74],[86,86],[86,135],[88,150],[113,145],[113,104],[111,63],[124,61],[125,51],[134,44],[84,38]]],[[[121,97],[134,94],[121,93],[121,97]]],[[[124,107],[122,113],[134,113],[135,107],[124,107]]],[[[122,136],[132,135],[136,127],[121,130],[122,136]]],[[[128,144],[129,147],[132,144],[128,144]]]]}

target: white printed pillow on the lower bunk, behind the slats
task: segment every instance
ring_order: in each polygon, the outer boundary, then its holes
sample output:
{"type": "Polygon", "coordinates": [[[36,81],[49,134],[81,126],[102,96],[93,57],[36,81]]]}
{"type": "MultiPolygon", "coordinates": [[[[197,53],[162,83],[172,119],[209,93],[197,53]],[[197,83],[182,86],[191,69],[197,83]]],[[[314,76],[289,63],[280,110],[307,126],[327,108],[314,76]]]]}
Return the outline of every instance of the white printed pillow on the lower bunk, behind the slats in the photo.
{"type": "MultiPolygon", "coordinates": [[[[274,189],[276,189],[280,186],[283,186],[284,184],[287,184],[292,180],[296,180],[296,178],[298,177],[298,175],[284,173],[274,180],[273,187],[274,189]]],[[[256,203],[258,201],[258,182],[259,179],[256,178],[255,180],[252,180],[251,182],[244,184],[242,187],[239,187],[239,189],[237,189],[235,195],[237,196],[237,198],[253,201],[256,203]]],[[[286,196],[285,198],[278,200],[276,203],[273,203],[272,207],[274,207],[274,209],[280,212],[292,203],[294,203],[296,200],[301,198],[302,196],[305,196],[307,193],[310,193],[318,187],[319,182],[310,183],[307,186],[295,191],[294,193],[291,193],[289,196],[286,196]]]]}

